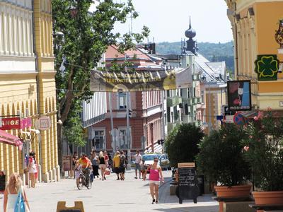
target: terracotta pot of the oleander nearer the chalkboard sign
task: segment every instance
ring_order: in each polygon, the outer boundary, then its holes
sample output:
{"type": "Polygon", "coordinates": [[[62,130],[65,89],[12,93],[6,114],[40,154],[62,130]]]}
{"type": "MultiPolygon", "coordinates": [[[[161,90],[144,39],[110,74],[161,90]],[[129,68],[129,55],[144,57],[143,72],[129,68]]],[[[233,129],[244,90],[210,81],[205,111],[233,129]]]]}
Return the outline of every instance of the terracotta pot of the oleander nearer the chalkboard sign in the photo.
{"type": "MultiPolygon", "coordinates": [[[[245,197],[250,196],[251,185],[238,185],[233,187],[218,187],[215,186],[217,197],[245,197]]],[[[219,201],[219,212],[223,212],[223,201],[219,201]]]]}

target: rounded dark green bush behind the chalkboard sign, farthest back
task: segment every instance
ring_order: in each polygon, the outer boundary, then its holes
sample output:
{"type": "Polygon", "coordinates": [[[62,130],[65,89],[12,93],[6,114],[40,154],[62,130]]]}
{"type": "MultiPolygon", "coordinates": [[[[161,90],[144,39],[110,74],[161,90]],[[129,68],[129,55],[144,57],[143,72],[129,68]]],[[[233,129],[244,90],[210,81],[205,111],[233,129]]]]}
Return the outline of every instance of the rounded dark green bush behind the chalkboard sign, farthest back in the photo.
{"type": "Polygon", "coordinates": [[[180,124],[176,126],[165,141],[166,153],[173,167],[178,163],[195,162],[195,155],[199,153],[198,143],[204,133],[195,124],[180,124]]]}

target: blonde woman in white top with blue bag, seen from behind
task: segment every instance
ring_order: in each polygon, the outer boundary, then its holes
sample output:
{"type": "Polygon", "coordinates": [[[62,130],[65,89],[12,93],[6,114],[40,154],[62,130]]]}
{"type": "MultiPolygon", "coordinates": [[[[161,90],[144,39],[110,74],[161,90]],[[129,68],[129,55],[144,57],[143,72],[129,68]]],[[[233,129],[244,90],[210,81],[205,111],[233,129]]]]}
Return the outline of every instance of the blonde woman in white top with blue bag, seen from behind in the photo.
{"type": "Polygon", "coordinates": [[[18,173],[13,173],[10,175],[7,187],[4,192],[4,212],[14,212],[16,201],[18,199],[18,194],[22,193],[23,201],[25,201],[25,211],[30,211],[30,206],[28,204],[28,198],[25,194],[25,189],[23,189],[23,182],[18,173]]]}

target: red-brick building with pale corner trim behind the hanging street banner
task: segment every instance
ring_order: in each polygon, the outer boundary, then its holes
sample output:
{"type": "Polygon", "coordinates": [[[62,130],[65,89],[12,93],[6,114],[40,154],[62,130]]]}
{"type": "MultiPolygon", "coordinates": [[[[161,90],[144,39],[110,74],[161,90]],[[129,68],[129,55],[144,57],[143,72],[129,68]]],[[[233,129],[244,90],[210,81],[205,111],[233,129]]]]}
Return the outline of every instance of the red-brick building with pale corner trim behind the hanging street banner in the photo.
{"type": "MultiPolygon", "coordinates": [[[[125,52],[127,60],[139,70],[161,70],[149,56],[140,49],[125,52]]],[[[125,54],[121,54],[114,46],[108,47],[106,52],[106,68],[109,68],[115,59],[117,63],[125,61],[125,54]]],[[[158,139],[164,138],[162,120],[162,95],[161,91],[139,91],[132,93],[108,93],[107,114],[105,120],[93,124],[92,146],[97,151],[121,149],[127,151],[162,151],[157,145],[158,139]],[[129,139],[127,139],[127,105],[130,110],[129,139]],[[112,124],[111,113],[112,110],[112,124]],[[112,129],[117,129],[117,140],[113,148],[112,129]]]]}

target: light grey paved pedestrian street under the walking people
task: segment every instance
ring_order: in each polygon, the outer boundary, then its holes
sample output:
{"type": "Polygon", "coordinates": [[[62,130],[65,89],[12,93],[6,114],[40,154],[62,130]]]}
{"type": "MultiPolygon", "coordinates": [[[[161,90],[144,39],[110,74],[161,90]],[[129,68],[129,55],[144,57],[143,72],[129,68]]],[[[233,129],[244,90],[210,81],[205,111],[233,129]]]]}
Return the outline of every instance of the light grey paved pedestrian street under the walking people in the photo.
{"type": "MultiPolygon", "coordinates": [[[[164,211],[164,212],[216,212],[218,204],[211,196],[200,196],[198,204],[186,200],[178,204],[176,196],[169,196],[169,179],[171,171],[164,171],[166,183],[160,188],[160,204],[151,204],[149,184],[141,179],[134,179],[134,172],[126,173],[125,181],[116,180],[110,175],[105,181],[95,179],[90,190],[76,188],[74,179],[62,179],[60,182],[37,184],[35,189],[25,189],[30,202],[31,212],[53,212],[57,201],[67,201],[67,206],[74,206],[74,201],[83,201],[88,211],[164,211]]],[[[0,201],[0,211],[3,199],[0,201]]]]}

